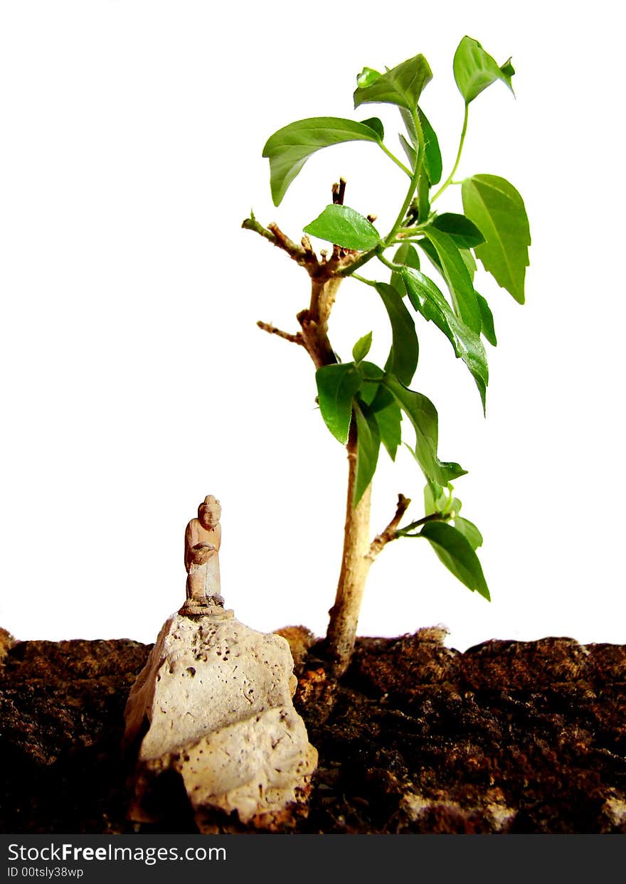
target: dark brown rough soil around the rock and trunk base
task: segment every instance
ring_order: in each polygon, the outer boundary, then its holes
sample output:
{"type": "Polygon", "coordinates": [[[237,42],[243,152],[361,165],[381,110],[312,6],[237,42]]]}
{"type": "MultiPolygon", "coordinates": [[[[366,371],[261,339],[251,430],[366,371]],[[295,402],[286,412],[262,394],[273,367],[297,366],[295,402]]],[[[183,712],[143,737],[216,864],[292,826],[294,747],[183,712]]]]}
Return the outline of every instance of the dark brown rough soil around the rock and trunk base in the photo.
{"type": "MultiPolygon", "coordinates": [[[[309,814],[291,831],[626,834],[626,645],[544,638],[460,653],[426,629],[359,639],[335,683],[321,643],[280,631],[319,752],[309,814]]],[[[159,827],[126,819],[123,713],[150,645],[0,638],[0,831],[196,831],[175,780],[159,827]]]]}

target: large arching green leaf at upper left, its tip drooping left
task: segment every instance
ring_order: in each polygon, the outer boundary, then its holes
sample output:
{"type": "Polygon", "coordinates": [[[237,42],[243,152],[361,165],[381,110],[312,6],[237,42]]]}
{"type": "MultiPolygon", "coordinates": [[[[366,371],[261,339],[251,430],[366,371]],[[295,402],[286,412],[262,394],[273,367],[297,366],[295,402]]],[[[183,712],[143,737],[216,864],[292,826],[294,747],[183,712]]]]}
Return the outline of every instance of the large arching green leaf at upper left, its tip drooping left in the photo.
{"type": "Polygon", "coordinates": [[[316,150],[343,141],[374,141],[380,144],[378,132],[378,126],[367,126],[340,117],[310,117],[279,129],[270,136],[263,148],[263,156],[270,160],[274,205],[280,204],[287,187],[316,150]]]}

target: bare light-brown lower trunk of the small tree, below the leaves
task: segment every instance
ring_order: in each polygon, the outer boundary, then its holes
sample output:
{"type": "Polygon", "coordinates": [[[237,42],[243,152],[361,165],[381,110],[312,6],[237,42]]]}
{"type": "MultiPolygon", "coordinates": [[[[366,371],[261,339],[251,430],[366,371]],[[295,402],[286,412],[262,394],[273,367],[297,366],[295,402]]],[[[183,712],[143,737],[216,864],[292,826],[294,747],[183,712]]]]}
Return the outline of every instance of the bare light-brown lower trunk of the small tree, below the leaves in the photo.
{"type": "Polygon", "coordinates": [[[370,570],[370,504],[371,483],[354,506],[356,481],[356,422],[353,417],[347,440],[347,501],[343,555],[335,603],[330,610],[326,633],[334,674],[339,677],[347,669],[355,647],[356,627],[363,600],[365,582],[370,570]]]}

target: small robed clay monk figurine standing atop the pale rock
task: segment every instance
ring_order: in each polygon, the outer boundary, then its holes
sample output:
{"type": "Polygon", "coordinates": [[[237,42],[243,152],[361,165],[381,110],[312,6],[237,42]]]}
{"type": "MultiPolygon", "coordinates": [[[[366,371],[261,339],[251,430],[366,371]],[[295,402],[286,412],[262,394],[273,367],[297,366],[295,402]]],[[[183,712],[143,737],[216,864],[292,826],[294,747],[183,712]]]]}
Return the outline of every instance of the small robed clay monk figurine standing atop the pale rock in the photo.
{"type": "Polygon", "coordinates": [[[185,530],[185,568],[187,568],[187,601],[180,613],[210,613],[223,608],[219,585],[219,545],[222,507],[212,494],[198,507],[198,518],[185,530]]]}

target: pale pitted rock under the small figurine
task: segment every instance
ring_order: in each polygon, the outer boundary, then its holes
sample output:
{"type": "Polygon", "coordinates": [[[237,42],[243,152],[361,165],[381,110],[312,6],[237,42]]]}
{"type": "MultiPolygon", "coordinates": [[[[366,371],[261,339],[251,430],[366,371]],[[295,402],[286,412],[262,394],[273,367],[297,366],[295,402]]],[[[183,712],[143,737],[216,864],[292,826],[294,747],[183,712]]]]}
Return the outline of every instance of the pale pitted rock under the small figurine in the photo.
{"type": "Polygon", "coordinates": [[[231,611],[213,612],[173,614],[128,697],[126,751],[141,738],[131,819],[164,815],[152,800],[156,780],[174,772],[201,831],[213,830],[215,812],[236,813],[244,825],[288,827],[306,812],[317,766],[292,702],[289,645],[231,611]]]}

